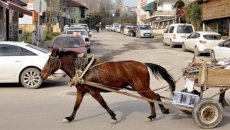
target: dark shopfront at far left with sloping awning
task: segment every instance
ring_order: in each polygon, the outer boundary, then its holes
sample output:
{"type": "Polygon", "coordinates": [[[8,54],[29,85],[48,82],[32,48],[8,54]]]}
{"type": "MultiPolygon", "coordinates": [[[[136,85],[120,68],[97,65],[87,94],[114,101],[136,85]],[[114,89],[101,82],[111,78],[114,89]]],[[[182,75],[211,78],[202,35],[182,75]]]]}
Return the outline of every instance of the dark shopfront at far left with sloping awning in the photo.
{"type": "Polygon", "coordinates": [[[19,17],[32,16],[20,0],[0,0],[0,41],[19,40],[19,17]]]}

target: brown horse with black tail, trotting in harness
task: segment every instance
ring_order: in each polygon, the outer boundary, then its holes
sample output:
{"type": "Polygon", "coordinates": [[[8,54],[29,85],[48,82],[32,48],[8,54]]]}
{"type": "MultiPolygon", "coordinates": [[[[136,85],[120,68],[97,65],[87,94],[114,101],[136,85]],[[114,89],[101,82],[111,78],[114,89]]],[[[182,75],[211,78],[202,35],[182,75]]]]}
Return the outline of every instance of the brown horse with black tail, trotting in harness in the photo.
{"type": "MultiPolygon", "coordinates": [[[[75,76],[75,68],[80,64],[76,64],[76,60],[79,57],[74,52],[63,52],[58,49],[53,49],[52,53],[41,71],[41,77],[46,79],[50,74],[54,73],[58,69],[62,69],[71,79],[75,76]]],[[[172,92],[175,90],[175,81],[167,72],[167,70],[159,65],[152,63],[140,63],[137,61],[118,61],[118,62],[101,62],[96,59],[93,62],[91,68],[84,75],[84,81],[95,82],[107,86],[113,86],[112,89],[120,90],[130,86],[134,91],[143,97],[161,101],[160,96],[154,93],[150,87],[150,75],[147,68],[152,70],[152,73],[156,77],[163,78],[170,86],[172,92]]],[[[95,98],[101,106],[110,114],[113,123],[116,123],[115,113],[107,106],[100,92],[104,90],[88,86],[85,84],[76,85],[76,102],[71,116],[64,119],[65,122],[71,122],[74,120],[76,112],[82,102],[82,99],[86,93],[89,93],[95,98]]],[[[148,120],[151,121],[156,117],[156,111],[154,103],[149,102],[151,107],[151,115],[148,116],[148,120]]],[[[168,114],[169,110],[163,105],[160,105],[162,113],[168,114]]]]}

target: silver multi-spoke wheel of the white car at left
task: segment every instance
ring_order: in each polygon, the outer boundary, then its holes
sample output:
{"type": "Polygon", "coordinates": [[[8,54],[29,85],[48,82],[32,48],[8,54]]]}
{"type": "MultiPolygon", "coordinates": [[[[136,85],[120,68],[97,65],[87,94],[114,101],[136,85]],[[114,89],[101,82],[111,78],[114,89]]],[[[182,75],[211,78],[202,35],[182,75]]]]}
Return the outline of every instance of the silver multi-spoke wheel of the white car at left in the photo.
{"type": "Polygon", "coordinates": [[[36,68],[27,68],[20,75],[20,83],[25,88],[35,89],[42,85],[40,71],[36,68]]]}

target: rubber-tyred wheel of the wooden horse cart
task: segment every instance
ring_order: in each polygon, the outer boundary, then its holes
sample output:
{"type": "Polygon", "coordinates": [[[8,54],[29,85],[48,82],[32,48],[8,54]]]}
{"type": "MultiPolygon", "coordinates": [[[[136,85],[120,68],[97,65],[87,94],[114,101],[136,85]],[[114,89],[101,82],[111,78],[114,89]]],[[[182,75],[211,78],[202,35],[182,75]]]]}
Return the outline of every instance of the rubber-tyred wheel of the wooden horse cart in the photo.
{"type": "Polygon", "coordinates": [[[222,108],[212,99],[202,99],[193,108],[192,117],[200,128],[214,128],[222,120],[222,108]]]}

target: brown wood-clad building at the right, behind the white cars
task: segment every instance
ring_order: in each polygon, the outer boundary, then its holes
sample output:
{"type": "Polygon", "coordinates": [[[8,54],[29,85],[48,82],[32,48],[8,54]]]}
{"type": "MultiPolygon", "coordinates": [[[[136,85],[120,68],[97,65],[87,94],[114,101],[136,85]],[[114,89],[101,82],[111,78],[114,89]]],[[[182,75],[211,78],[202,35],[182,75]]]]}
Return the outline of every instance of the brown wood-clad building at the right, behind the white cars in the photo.
{"type": "Polygon", "coordinates": [[[230,37],[230,1],[206,0],[200,2],[203,30],[215,31],[230,37]]]}

